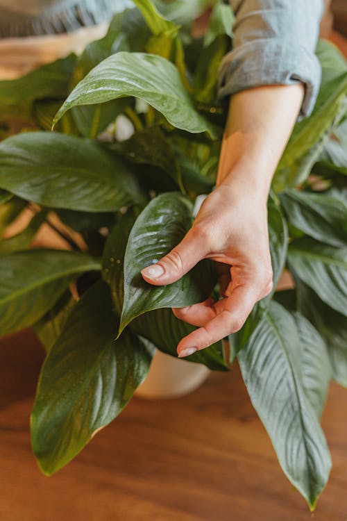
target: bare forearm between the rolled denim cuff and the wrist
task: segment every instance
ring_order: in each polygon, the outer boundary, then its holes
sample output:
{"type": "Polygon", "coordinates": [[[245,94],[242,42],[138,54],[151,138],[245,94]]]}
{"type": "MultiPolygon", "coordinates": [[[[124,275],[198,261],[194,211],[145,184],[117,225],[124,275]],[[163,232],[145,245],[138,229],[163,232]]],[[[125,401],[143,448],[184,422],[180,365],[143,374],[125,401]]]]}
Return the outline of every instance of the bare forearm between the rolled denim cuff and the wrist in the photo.
{"type": "Polygon", "coordinates": [[[217,186],[240,181],[267,199],[303,96],[303,85],[298,83],[248,89],[230,98],[217,186]]]}

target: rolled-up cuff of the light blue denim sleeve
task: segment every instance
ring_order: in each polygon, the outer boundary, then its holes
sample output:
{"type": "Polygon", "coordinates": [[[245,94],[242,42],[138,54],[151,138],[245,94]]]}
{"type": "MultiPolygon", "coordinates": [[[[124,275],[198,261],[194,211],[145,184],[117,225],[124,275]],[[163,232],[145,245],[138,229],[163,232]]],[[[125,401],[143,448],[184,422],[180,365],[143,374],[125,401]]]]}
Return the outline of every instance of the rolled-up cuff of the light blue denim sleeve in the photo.
{"type": "Polygon", "coordinates": [[[305,85],[301,117],[312,113],[321,84],[321,65],[312,51],[277,38],[253,40],[230,51],[218,75],[219,100],[262,85],[305,85]]]}

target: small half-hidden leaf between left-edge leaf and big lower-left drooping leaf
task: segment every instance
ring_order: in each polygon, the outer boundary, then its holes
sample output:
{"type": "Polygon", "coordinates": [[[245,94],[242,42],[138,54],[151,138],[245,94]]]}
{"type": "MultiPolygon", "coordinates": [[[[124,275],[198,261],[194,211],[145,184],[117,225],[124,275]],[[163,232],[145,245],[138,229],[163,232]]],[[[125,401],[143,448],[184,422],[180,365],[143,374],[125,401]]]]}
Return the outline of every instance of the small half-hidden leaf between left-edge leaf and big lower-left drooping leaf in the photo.
{"type": "Polygon", "coordinates": [[[40,318],[36,324],[33,324],[33,330],[40,339],[46,352],[56,343],[60,336],[62,328],[71,313],[72,308],[76,305],[76,300],[72,297],[71,292],[67,290],[62,297],[54,304],[47,313],[40,318]]]}

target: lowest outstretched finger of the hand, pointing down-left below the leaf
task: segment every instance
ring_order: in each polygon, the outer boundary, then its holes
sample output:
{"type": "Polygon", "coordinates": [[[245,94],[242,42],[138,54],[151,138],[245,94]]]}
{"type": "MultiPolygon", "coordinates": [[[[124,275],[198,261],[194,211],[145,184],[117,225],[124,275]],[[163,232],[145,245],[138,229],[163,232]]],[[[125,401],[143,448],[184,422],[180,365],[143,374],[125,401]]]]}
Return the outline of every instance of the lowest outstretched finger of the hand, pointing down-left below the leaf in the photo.
{"type": "MultiPolygon", "coordinates": [[[[258,299],[258,293],[255,292],[253,286],[238,286],[235,288],[230,297],[221,299],[214,304],[215,313],[213,317],[210,314],[211,319],[208,322],[203,324],[201,321],[196,324],[201,327],[192,331],[180,341],[177,347],[178,356],[180,358],[188,356],[194,352],[192,349],[195,351],[204,349],[231,333],[239,331],[258,299]]],[[[201,313],[202,316],[203,313],[201,313]]],[[[208,316],[208,313],[205,316],[208,316]]]]}

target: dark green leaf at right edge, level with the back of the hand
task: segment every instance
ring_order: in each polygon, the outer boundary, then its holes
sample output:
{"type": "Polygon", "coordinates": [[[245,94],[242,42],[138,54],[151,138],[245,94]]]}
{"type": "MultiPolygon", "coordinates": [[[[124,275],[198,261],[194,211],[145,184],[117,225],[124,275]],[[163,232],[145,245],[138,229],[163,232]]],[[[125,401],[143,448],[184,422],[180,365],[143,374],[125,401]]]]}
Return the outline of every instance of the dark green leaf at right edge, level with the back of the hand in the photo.
{"type": "Polygon", "coordinates": [[[285,190],[280,200],[293,226],[332,246],[347,244],[347,205],[330,195],[285,190]]]}

